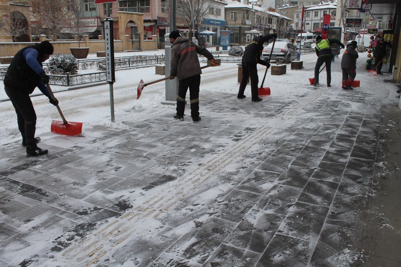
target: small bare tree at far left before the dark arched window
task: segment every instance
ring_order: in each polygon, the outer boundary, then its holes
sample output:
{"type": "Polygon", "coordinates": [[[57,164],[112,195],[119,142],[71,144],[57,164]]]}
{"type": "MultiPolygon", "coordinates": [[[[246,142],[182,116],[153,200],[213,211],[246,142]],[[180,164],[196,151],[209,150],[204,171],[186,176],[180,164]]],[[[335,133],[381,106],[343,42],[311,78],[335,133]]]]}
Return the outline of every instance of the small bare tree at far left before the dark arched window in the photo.
{"type": "Polygon", "coordinates": [[[13,42],[18,42],[18,37],[28,33],[28,22],[25,16],[20,12],[12,12],[11,14],[3,15],[4,30],[12,36],[13,42]]]}

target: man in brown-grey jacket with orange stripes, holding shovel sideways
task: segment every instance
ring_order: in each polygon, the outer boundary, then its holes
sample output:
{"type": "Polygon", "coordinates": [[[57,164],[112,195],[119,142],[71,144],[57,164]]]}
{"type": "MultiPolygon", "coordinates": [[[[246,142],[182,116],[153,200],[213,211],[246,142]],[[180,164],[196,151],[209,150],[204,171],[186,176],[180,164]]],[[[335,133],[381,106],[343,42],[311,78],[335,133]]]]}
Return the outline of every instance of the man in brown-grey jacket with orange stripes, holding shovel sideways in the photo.
{"type": "Polygon", "coordinates": [[[201,85],[201,65],[197,54],[209,59],[213,66],[219,65],[205,47],[196,45],[186,37],[182,37],[177,30],[170,33],[171,65],[170,80],[178,77],[178,95],[176,115],[174,118],[183,120],[185,109],[185,96],[189,88],[189,99],[191,105],[191,117],[193,122],[201,120],[199,117],[199,86],[201,85]]]}

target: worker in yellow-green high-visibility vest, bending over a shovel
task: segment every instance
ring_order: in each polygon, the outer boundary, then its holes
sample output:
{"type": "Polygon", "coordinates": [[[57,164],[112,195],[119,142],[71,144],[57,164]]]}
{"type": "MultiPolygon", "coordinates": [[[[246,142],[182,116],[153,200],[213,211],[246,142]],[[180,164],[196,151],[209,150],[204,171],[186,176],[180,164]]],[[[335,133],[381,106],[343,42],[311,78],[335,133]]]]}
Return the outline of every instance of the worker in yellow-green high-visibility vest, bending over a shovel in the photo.
{"type": "Polygon", "coordinates": [[[344,44],[337,39],[322,39],[322,36],[316,36],[316,55],[318,56],[318,60],[315,65],[315,84],[319,85],[319,70],[323,63],[326,64],[326,74],[327,74],[327,86],[331,87],[331,60],[334,55],[331,52],[330,45],[338,44],[341,48],[345,48],[344,44]]]}

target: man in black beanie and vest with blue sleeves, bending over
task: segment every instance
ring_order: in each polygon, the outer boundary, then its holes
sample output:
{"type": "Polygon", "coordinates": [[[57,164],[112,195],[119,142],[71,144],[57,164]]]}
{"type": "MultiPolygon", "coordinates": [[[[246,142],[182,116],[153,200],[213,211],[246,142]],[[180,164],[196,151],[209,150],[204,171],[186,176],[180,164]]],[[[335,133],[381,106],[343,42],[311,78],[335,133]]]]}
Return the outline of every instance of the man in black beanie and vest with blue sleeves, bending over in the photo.
{"type": "Polygon", "coordinates": [[[40,149],[36,145],[41,139],[35,138],[36,113],[29,95],[38,87],[49,102],[58,105],[53,99],[45,84],[50,77],[46,75],[42,62],[53,54],[53,45],[49,41],[29,45],[18,51],[4,77],[4,90],[11,100],[17,113],[18,129],[22,136],[22,146],[26,146],[26,156],[40,156],[47,154],[47,149],[40,149]]]}

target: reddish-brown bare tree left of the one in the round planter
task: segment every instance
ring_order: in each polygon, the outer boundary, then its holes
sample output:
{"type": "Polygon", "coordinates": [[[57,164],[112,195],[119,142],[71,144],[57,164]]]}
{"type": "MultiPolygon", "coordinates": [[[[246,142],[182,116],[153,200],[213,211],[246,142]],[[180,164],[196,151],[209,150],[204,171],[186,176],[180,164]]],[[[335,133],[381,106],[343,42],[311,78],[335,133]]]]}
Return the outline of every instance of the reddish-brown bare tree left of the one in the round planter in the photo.
{"type": "Polygon", "coordinates": [[[69,0],[31,0],[32,13],[47,28],[48,35],[57,36],[69,19],[69,0]]]}

